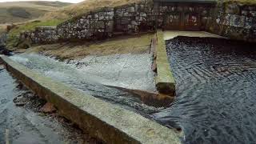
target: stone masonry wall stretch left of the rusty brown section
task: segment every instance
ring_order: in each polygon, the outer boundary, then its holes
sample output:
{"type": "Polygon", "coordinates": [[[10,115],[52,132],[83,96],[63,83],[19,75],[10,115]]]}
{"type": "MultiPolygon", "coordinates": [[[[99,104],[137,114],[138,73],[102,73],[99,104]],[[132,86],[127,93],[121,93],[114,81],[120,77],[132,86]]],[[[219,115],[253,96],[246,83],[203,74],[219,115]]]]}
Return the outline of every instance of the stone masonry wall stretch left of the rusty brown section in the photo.
{"type": "Polygon", "coordinates": [[[54,43],[154,30],[154,22],[149,19],[152,8],[152,3],[147,1],[114,8],[104,7],[62,22],[57,27],[38,27],[34,31],[24,32],[20,40],[30,38],[33,43],[54,43]]]}

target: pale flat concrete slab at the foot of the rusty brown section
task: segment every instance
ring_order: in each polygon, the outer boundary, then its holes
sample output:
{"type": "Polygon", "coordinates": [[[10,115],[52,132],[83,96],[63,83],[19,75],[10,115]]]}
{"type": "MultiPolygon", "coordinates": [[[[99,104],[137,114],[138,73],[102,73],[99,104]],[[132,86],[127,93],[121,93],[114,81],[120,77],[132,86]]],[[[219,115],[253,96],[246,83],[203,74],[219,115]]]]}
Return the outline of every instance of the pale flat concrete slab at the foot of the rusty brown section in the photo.
{"type": "Polygon", "coordinates": [[[217,34],[211,34],[206,31],[178,31],[178,30],[166,30],[163,32],[164,40],[170,40],[178,36],[186,37],[198,37],[198,38],[224,38],[217,34]]]}

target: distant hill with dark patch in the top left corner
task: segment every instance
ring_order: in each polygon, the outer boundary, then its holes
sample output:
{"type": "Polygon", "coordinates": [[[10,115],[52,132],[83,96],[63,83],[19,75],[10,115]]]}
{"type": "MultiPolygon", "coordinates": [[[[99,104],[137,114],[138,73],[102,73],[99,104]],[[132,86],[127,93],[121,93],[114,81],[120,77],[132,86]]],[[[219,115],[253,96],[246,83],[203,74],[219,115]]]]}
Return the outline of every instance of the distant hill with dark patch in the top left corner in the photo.
{"type": "Polygon", "coordinates": [[[26,22],[69,6],[66,2],[0,2],[0,24],[26,22]]]}

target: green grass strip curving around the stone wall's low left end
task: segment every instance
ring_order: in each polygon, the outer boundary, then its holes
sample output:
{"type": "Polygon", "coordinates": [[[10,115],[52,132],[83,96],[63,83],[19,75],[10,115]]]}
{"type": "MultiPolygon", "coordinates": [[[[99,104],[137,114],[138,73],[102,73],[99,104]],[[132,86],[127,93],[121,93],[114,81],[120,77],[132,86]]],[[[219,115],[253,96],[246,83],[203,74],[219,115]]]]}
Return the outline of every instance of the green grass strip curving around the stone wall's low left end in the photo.
{"type": "Polygon", "coordinates": [[[47,22],[27,22],[25,24],[15,26],[14,29],[10,30],[8,34],[7,48],[10,50],[14,50],[14,47],[18,45],[19,34],[24,31],[34,30],[38,26],[57,26],[61,22],[61,20],[54,19],[47,22]]]}

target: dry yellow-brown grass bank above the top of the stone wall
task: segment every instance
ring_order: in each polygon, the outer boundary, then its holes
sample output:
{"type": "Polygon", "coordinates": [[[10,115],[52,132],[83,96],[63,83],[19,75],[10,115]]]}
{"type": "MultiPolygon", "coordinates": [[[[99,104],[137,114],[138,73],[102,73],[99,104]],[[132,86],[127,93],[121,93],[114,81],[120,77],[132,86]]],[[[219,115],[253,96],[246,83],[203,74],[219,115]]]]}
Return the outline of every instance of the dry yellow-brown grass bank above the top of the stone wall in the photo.
{"type": "Polygon", "coordinates": [[[78,4],[63,7],[60,10],[50,12],[44,15],[42,19],[67,19],[96,10],[102,7],[122,6],[133,2],[142,2],[143,0],[86,0],[78,4]]]}

